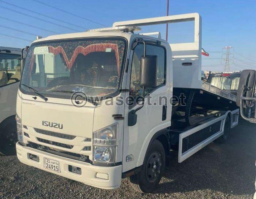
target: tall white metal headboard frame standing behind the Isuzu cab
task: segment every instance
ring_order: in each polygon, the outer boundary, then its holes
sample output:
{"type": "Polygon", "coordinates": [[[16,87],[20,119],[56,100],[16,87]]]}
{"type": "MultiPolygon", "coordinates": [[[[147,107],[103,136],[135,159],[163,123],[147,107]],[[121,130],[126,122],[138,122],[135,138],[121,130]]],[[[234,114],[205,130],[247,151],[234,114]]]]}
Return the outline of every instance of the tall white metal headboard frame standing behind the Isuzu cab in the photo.
{"type": "Polygon", "coordinates": [[[115,22],[113,28],[120,26],[149,26],[190,21],[194,21],[194,42],[170,44],[173,59],[173,74],[175,74],[173,76],[173,87],[201,89],[202,20],[198,13],[115,22]],[[191,65],[187,66],[184,65],[184,63],[191,63],[191,65]]]}

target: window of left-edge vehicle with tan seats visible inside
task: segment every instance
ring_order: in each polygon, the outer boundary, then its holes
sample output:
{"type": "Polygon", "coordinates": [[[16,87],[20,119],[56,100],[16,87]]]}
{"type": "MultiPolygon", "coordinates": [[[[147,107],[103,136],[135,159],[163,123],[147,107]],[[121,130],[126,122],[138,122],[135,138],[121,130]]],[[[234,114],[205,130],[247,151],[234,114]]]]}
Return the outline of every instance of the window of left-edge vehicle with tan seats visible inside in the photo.
{"type": "Polygon", "coordinates": [[[0,54],[0,86],[18,82],[21,79],[20,55],[0,54]]]}

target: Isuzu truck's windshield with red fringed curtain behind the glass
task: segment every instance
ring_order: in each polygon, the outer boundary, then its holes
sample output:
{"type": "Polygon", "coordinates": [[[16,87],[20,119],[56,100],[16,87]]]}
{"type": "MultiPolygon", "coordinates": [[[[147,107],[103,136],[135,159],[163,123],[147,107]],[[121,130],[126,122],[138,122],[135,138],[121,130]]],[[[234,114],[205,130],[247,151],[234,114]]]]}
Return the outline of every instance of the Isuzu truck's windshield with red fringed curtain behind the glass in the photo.
{"type": "MultiPolygon", "coordinates": [[[[119,92],[125,50],[122,38],[35,43],[29,48],[21,83],[52,97],[70,98],[76,91],[87,97],[113,96],[119,92]]],[[[24,85],[21,90],[30,94],[24,85]]]]}

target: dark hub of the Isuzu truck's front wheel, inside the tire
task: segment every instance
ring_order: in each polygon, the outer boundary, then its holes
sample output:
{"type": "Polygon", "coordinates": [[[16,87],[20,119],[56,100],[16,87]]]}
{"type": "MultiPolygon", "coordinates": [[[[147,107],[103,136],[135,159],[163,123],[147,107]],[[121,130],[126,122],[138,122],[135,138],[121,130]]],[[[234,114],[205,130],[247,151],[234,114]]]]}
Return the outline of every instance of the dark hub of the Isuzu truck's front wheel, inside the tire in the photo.
{"type": "Polygon", "coordinates": [[[146,178],[149,182],[157,180],[161,171],[162,161],[161,155],[157,152],[152,153],[147,162],[146,178]]]}

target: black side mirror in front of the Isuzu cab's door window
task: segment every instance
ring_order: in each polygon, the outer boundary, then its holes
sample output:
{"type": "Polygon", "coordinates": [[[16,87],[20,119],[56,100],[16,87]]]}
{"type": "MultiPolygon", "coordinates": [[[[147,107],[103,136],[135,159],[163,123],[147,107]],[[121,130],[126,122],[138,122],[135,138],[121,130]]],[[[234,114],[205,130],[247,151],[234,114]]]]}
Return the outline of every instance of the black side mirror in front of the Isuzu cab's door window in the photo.
{"type": "Polygon", "coordinates": [[[146,55],[140,58],[140,87],[157,86],[157,55],[146,55]]]}

